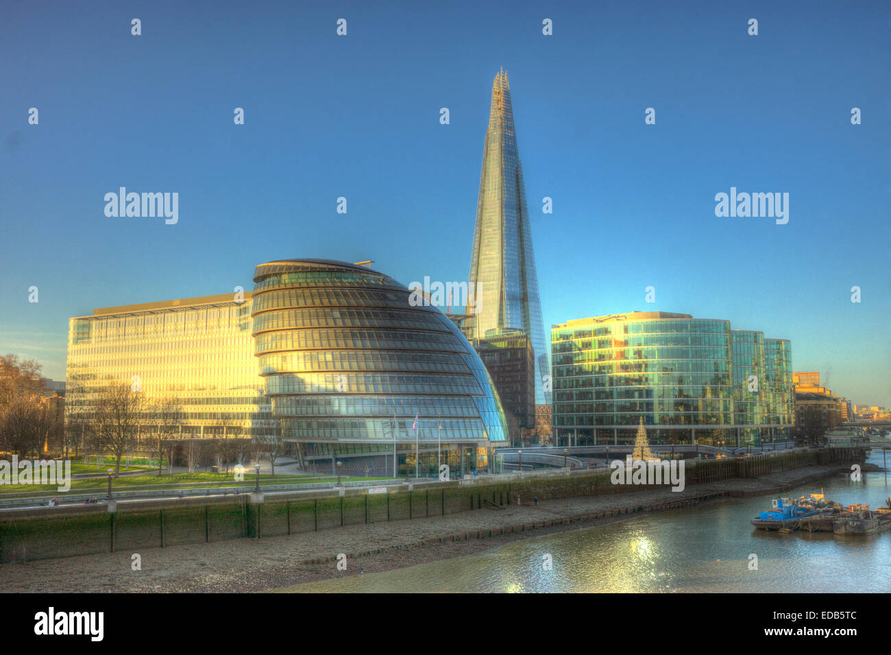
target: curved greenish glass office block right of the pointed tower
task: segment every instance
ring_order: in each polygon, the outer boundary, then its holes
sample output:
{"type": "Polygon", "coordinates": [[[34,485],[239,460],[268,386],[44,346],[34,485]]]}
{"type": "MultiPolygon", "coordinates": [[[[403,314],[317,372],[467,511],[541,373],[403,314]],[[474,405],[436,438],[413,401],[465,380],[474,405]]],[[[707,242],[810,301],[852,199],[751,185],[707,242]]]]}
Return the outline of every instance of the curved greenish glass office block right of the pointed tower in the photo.
{"type": "Polygon", "coordinates": [[[631,444],[641,418],[652,444],[789,438],[789,341],[729,321],[631,312],[554,325],[552,355],[557,445],[631,444]]]}

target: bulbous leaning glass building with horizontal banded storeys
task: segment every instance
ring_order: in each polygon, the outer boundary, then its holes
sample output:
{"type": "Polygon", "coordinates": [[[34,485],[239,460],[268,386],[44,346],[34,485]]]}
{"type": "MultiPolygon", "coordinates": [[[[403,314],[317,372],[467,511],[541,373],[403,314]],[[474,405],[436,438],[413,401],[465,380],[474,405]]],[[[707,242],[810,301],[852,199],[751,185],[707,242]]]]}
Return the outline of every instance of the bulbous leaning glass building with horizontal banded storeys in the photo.
{"type": "Polygon", "coordinates": [[[266,397],[308,467],[347,460],[343,472],[425,476],[441,461],[469,472],[488,466],[490,444],[506,445],[478,355],[399,282],[346,262],[283,259],[257,266],[254,284],[266,397]]]}

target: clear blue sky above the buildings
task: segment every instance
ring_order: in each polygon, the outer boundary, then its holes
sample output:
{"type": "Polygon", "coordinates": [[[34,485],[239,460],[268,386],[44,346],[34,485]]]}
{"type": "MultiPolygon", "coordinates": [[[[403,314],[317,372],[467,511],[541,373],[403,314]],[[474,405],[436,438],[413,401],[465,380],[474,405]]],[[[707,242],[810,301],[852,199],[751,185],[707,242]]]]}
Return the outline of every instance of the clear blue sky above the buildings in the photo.
{"type": "Polygon", "coordinates": [[[0,352],[64,379],[69,316],[249,289],[273,258],[466,280],[503,66],[545,332],[726,318],[891,405],[887,3],[264,5],[3,3],[0,352]],[[178,192],[179,223],[105,217],[119,186],[178,192]],[[715,217],[731,186],[789,192],[789,224],[715,217]]]}

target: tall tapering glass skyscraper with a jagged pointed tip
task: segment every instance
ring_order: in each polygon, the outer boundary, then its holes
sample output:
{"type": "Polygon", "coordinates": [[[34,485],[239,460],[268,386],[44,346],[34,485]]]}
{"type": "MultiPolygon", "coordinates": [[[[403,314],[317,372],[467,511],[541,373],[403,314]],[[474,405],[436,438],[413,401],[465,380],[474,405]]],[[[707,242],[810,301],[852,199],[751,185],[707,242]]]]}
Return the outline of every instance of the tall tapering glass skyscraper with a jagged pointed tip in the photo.
{"type": "Polygon", "coordinates": [[[511,85],[504,70],[499,71],[492,85],[470,287],[476,291],[467,307],[473,338],[483,339],[486,332],[505,328],[526,332],[535,349],[535,403],[550,404],[550,384],[545,386],[544,376],[551,375],[551,365],[544,346],[526,187],[513,127],[511,85]]]}

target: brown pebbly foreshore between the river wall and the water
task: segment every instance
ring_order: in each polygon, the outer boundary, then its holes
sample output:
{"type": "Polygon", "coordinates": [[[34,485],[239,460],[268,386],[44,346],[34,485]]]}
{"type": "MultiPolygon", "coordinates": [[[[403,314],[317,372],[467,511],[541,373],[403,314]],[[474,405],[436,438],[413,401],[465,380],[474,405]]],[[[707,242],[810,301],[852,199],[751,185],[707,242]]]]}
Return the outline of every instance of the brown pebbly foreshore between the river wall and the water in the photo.
{"type": "MultiPolygon", "coordinates": [[[[596,495],[442,518],[346,526],[322,532],[237,539],[102,553],[61,560],[0,565],[4,591],[21,592],[249,592],[302,582],[397,569],[425,561],[479,553],[528,536],[603,525],[680,506],[739,495],[760,495],[825,478],[838,467],[807,467],[756,479],[732,479],[683,492],[596,495]],[[347,555],[347,570],[336,568],[347,555]]],[[[526,499],[522,499],[524,503],[526,499]]]]}

